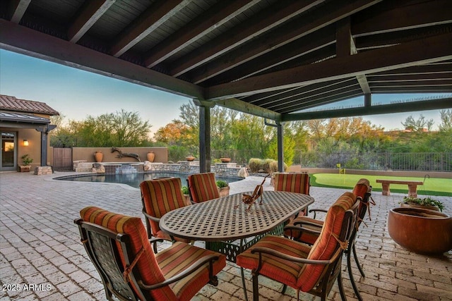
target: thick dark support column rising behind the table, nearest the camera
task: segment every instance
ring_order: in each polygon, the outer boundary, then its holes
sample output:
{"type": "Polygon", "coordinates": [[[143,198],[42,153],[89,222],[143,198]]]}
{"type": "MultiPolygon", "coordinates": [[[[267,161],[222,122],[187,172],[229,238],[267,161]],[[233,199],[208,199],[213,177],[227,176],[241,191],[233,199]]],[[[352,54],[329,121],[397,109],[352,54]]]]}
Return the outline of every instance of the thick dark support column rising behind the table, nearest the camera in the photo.
{"type": "Polygon", "coordinates": [[[215,106],[213,102],[193,99],[199,106],[199,172],[210,172],[210,108],[215,106]]]}

